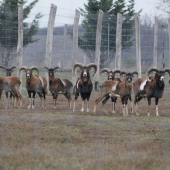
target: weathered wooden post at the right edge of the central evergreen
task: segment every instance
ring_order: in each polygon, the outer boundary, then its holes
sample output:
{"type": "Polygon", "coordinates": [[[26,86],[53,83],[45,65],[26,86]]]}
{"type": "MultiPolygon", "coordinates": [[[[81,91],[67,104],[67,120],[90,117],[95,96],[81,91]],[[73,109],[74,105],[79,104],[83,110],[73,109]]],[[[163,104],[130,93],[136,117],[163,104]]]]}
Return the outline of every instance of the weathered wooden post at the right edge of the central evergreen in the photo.
{"type": "Polygon", "coordinates": [[[140,44],[140,18],[135,15],[135,32],[136,32],[136,64],[138,77],[141,78],[141,44],[140,44]]]}

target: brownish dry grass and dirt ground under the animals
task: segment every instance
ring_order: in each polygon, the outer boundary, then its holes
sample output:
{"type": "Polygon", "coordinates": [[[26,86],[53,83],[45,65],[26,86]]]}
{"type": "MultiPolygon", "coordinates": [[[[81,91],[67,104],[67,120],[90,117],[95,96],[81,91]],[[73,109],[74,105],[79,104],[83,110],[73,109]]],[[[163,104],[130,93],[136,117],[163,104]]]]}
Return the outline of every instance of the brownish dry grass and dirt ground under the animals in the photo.
{"type": "Polygon", "coordinates": [[[109,115],[104,114],[101,103],[94,114],[99,95],[92,93],[89,113],[80,112],[80,98],[73,112],[62,95],[57,109],[51,95],[46,109],[40,109],[38,96],[35,109],[27,109],[26,97],[20,110],[5,109],[2,100],[0,170],[170,169],[170,89],[165,89],[159,102],[160,117],[156,117],[154,99],[150,117],[146,99],[139,103],[140,116],[130,113],[129,103],[130,116],[124,117],[120,99],[116,114],[111,113],[111,100],[107,103],[109,115]]]}

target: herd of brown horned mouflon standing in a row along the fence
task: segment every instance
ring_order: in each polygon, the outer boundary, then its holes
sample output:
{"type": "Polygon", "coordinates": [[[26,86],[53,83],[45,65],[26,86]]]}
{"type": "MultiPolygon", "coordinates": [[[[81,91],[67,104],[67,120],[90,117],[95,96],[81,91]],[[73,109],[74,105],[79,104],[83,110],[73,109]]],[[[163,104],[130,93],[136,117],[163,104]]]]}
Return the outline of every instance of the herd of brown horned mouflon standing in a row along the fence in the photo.
{"type": "MultiPolygon", "coordinates": [[[[12,72],[16,67],[6,68],[4,66],[0,66],[6,73],[6,77],[0,77],[0,98],[2,96],[2,92],[5,91],[6,94],[6,108],[20,108],[22,106],[22,95],[19,92],[19,87],[21,85],[21,81],[18,77],[12,76],[12,72]],[[12,100],[13,98],[13,100],[12,100]],[[9,106],[9,100],[12,101],[11,106],[9,106]]],[[[44,69],[48,72],[48,81],[44,76],[39,75],[39,70],[36,66],[32,66],[30,68],[26,66],[22,66],[19,70],[19,74],[21,71],[24,71],[26,74],[26,89],[29,97],[29,105],[28,109],[34,108],[34,99],[36,93],[41,98],[41,108],[46,108],[46,93],[47,93],[47,85],[49,84],[49,91],[52,94],[54,106],[56,108],[56,101],[58,94],[63,94],[68,99],[68,106],[71,108],[72,94],[74,94],[74,104],[73,111],[76,108],[76,101],[81,96],[82,100],[82,108],[81,112],[89,112],[89,100],[91,96],[91,92],[93,90],[93,83],[91,77],[95,75],[97,72],[97,65],[94,63],[90,63],[88,65],[83,65],[82,63],[76,63],[73,67],[73,72],[76,77],[78,77],[75,85],[73,86],[72,82],[68,79],[60,79],[56,78],[54,73],[57,71],[59,67],[48,68],[44,67],[44,69]],[[80,75],[77,76],[76,68],[80,68],[80,75]],[[94,69],[93,75],[90,75],[90,69],[94,69]],[[33,75],[32,72],[36,71],[38,75],[33,75]],[[85,108],[85,101],[86,108],[85,108]]],[[[108,114],[106,108],[106,102],[109,98],[112,101],[112,113],[115,113],[115,104],[117,98],[120,98],[122,103],[122,112],[124,116],[128,116],[128,99],[131,103],[131,112],[133,113],[133,102],[132,102],[132,89],[134,92],[134,104],[135,104],[135,112],[136,115],[139,115],[138,112],[138,102],[142,98],[147,98],[148,100],[148,116],[150,116],[150,106],[151,106],[151,98],[155,98],[156,105],[156,116],[159,116],[158,112],[158,102],[159,98],[162,97],[164,92],[164,75],[166,73],[170,76],[170,69],[159,70],[157,68],[149,68],[146,72],[146,78],[138,78],[134,83],[132,83],[132,79],[134,75],[138,76],[137,71],[125,72],[121,70],[110,70],[108,68],[104,68],[100,71],[100,75],[102,73],[106,73],[106,81],[100,85],[100,95],[95,100],[94,104],[94,114],[97,110],[97,104],[102,101],[103,108],[105,114],[108,114]],[[149,77],[149,74],[154,72],[154,76],[149,77]],[[120,75],[120,78],[117,78],[117,75],[120,75]]],[[[21,77],[21,76],[20,76],[21,77]]]]}

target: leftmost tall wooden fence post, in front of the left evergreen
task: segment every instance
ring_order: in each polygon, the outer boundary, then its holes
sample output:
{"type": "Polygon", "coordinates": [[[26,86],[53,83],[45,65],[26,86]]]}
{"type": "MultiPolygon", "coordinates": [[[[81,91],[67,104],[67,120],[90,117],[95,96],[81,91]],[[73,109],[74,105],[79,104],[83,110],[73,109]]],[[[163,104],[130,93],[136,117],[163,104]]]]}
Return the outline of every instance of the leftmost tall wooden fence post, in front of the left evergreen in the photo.
{"type": "MultiPolygon", "coordinates": [[[[17,44],[17,76],[19,77],[19,69],[22,66],[23,57],[23,6],[18,4],[18,44],[17,44]]],[[[22,91],[22,73],[21,73],[21,85],[19,91],[22,91]]]]}

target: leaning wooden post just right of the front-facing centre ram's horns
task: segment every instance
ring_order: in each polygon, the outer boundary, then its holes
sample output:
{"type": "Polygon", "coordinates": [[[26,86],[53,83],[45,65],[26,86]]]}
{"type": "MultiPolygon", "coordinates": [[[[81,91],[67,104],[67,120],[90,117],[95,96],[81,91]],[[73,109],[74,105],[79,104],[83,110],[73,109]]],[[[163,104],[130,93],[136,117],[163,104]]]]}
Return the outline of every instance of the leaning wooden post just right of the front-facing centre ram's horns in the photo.
{"type": "Polygon", "coordinates": [[[97,65],[97,72],[94,76],[95,90],[99,91],[99,70],[100,70],[100,47],[101,47],[101,33],[103,23],[103,11],[99,10],[97,30],[96,30],[96,49],[95,49],[95,64],[97,65]]]}

